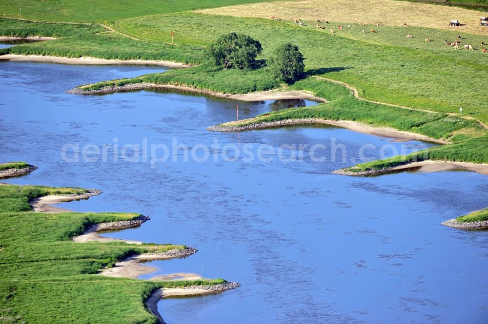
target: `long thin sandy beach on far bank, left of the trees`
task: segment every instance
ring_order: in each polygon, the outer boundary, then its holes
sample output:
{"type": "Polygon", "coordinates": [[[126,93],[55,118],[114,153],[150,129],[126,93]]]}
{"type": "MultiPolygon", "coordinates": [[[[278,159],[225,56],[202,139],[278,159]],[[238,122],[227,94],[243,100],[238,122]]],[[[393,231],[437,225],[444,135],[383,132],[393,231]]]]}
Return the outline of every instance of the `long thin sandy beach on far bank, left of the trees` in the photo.
{"type": "Polygon", "coordinates": [[[143,60],[143,59],[118,60],[118,59],[105,59],[105,58],[96,58],[96,57],[55,57],[55,56],[17,55],[17,54],[1,55],[0,61],[1,60],[61,63],[61,64],[83,64],[83,65],[112,65],[112,64],[161,65],[161,66],[167,66],[171,68],[187,68],[192,66],[192,65],[173,62],[173,61],[156,61],[156,60],[143,60]]]}

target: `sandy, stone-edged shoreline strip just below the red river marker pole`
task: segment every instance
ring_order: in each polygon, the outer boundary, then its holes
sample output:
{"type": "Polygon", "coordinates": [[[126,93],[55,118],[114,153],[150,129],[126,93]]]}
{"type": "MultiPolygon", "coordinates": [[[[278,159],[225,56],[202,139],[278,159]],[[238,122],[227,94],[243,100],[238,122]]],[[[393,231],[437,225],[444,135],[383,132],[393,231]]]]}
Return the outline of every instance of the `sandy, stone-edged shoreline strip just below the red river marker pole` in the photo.
{"type": "MultiPolygon", "coordinates": [[[[254,118],[248,119],[252,121],[254,118]]],[[[246,120],[241,120],[240,123],[245,122],[246,120]]],[[[233,122],[225,123],[222,125],[215,125],[207,127],[207,131],[212,132],[243,132],[243,131],[250,131],[250,130],[258,130],[258,129],[266,129],[271,127],[282,127],[282,126],[291,126],[291,125],[307,125],[307,124],[327,124],[333,125],[337,127],[346,128],[350,131],[365,133],[380,137],[386,138],[394,138],[394,141],[427,141],[427,142],[434,142],[439,144],[447,144],[449,142],[435,139],[432,137],[428,137],[421,134],[416,133],[409,133],[405,131],[398,131],[393,128],[389,127],[375,127],[366,125],[364,123],[360,123],[357,121],[350,121],[350,120],[324,120],[318,118],[304,118],[304,119],[287,119],[287,120],[280,120],[280,121],[271,121],[271,122],[258,122],[256,124],[244,125],[244,126],[234,126],[232,125],[233,122]]]]}

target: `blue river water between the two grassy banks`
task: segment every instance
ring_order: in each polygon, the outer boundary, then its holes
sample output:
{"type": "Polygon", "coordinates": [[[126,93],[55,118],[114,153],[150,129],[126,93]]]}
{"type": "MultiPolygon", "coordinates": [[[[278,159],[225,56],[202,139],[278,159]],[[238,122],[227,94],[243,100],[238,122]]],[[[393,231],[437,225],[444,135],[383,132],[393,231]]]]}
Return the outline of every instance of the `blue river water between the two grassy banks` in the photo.
{"type": "Polygon", "coordinates": [[[236,105],[247,118],[315,104],[310,101],[64,93],[83,82],[157,71],[163,69],[0,62],[0,161],[39,166],[8,183],[103,191],[62,208],[151,217],[111,237],[199,249],[184,259],[148,263],[158,270],[142,278],[187,272],[242,284],[221,294],[162,300],[167,323],[487,323],[488,231],[440,225],[488,207],[487,176],[335,175],[363,155],[433,145],[343,128],[205,130],[235,120],[236,105]],[[205,151],[215,143],[218,149],[205,151]],[[325,147],[308,150],[318,144],[325,147]]]}

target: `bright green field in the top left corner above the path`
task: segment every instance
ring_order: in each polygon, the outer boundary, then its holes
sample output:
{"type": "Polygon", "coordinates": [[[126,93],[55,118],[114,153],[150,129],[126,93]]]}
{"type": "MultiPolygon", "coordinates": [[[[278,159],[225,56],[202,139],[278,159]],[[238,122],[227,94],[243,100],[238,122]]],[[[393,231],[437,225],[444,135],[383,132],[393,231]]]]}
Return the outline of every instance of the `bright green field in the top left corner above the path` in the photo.
{"type": "Polygon", "coordinates": [[[269,0],[0,0],[0,15],[42,21],[98,22],[269,0]]]}

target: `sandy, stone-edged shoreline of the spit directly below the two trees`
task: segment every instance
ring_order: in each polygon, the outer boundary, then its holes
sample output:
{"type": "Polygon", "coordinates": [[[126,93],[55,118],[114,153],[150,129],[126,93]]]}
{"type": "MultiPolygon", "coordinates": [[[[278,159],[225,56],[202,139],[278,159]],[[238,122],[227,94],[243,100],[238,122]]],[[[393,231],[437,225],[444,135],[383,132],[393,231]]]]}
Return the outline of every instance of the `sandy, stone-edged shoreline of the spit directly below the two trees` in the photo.
{"type": "Polygon", "coordinates": [[[223,94],[220,92],[194,88],[194,87],[171,85],[171,84],[154,84],[154,83],[147,83],[147,82],[127,84],[123,86],[104,87],[99,90],[89,90],[89,91],[83,91],[80,88],[73,88],[71,90],[66,91],[66,93],[73,94],[73,95],[94,95],[94,94],[108,94],[108,93],[113,93],[118,91],[141,90],[141,89],[148,89],[148,88],[161,88],[161,89],[188,91],[188,92],[212,95],[216,97],[229,98],[229,99],[241,100],[241,101],[310,99],[315,101],[327,102],[327,100],[325,100],[324,98],[316,97],[313,95],[313,93],[307,91],[269,90],[263,92],[253,92],[244,95],[229,95],[229,94],[223,94]]]}

